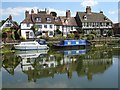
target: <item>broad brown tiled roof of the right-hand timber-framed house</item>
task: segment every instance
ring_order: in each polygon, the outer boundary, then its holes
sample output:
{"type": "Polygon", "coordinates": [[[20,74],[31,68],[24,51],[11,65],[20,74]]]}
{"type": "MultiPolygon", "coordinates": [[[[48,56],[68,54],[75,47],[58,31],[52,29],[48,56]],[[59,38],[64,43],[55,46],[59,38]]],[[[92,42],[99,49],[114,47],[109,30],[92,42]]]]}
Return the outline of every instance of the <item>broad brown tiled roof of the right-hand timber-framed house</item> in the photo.
{"type": "Polygon", "coordinates": [[[77,12],[77,14],[82,22],[112,22],[103,13],[77,12]],[[84,17],[86,17],[87,19],[85,20],[84,17]]]}

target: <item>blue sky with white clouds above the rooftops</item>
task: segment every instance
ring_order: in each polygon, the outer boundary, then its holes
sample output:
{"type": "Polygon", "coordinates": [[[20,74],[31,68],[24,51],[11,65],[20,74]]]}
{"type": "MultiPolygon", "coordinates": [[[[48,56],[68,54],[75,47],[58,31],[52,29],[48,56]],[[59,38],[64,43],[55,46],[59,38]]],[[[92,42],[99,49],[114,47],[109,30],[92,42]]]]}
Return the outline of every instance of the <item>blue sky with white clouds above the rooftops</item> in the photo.
{"type": "MultiPolygon", "coordinates": [[[[59,0],[58,0],[59,1],[59,0]]],[[[91,6],[92,12],[103,11],[113,23],[118,22],[118,2],[114,0],[112,2],[99,2],[98,0],[83,0],[77,2],[2,2],[0,7],[0,13],[2,13],[1,20],[5,20],[10,14],[14,21],[20,23],[24,20],[26,10],[44,10],[57,12],[58,16],[64,16],[66,10],[70,10],[72,16],[76,15],[76,12],[85,12],[86,6],[91,6]]]]}

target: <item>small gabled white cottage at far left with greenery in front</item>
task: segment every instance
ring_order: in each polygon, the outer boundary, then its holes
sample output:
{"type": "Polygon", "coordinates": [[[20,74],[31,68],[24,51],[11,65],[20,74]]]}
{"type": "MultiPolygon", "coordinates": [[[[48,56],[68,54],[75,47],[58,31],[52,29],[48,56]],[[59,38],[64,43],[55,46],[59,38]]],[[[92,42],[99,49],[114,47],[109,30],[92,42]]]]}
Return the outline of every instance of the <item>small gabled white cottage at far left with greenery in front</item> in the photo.
{"type": "Polygon", "coordinates": [[[19,35],[17,33],[19,29],[19,26],[16,21],[12,20],[12,16],[9,15],[9,17],[6,20],[1,21],[0,26],[0,33],[2,34],[2,39],[4,42],[10,41],[11,39],[19,39],[19,35]]]}

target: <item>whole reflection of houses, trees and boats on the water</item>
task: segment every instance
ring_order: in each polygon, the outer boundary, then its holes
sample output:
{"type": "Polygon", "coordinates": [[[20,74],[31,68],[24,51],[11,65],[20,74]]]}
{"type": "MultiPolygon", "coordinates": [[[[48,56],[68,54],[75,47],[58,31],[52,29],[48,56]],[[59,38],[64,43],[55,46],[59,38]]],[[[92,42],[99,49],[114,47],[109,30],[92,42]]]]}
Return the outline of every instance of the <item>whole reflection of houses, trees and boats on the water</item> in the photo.
{"type": "Polygon", "coordinates": [[[28,81],[67,74],[68,79],[77,73],[78,77],[104,73],[112,65],[111,51],[63,50],[63,51],[16,51],[3,55],[2,67],[14,75],[15,68],[21,65],[21,71],[28,81]]]}

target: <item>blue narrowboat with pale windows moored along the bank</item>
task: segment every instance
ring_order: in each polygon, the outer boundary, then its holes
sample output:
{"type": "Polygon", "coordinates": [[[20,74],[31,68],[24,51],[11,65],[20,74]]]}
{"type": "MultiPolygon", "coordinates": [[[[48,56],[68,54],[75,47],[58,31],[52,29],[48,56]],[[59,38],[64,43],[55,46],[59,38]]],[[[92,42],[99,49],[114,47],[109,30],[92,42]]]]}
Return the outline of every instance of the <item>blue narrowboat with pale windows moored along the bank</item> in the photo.
{"type": "Polygon", "coordinates": [[[54,44],[55,47],[75,47],[75,46],[86,46],[91,45],[87,40],[62,40],[58,44],[54,44]]]}

